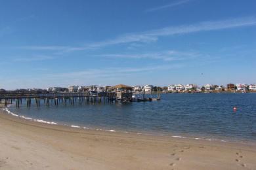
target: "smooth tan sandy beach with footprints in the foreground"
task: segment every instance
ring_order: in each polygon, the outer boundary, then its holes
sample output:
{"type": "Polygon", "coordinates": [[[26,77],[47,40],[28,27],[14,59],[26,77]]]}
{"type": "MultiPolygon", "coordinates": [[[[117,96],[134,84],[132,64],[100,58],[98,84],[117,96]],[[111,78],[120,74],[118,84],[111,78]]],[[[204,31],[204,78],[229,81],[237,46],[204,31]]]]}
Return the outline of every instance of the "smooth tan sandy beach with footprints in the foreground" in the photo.
{"type": "Polygon", "coordinates": [[[1,109],[0,169],[256,169],[256,145],[49,125],[1,109]]]}

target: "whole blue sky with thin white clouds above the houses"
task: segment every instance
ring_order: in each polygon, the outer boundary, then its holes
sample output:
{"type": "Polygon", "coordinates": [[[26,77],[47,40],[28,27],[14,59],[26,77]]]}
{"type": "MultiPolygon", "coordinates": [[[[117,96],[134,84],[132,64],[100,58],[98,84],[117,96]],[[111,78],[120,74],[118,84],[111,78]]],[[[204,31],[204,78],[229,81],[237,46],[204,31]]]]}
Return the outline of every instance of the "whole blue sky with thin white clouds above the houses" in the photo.
{"type": "Polygon", "coordinates": [[[254,0],[9,0],[0,88],[256,83],[254,0]]]}

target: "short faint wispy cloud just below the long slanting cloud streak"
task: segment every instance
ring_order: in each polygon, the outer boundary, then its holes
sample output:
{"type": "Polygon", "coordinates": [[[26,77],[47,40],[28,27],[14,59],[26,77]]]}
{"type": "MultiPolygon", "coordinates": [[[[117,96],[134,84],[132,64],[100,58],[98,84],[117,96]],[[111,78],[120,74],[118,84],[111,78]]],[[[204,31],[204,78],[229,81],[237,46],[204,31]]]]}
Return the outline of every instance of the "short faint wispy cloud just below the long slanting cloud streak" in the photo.
{"type": "Polygon", "coordinates": [[[152,52],[143,54],[99,54],[96,57],[106,57],[106,58],[129,58],[129,59],[160,59],[163,61],[181,61],[184,59],[195,59],[201,54],[197,52],[179,52],[175,50],[168,50],[165,52],[152,52]]]}

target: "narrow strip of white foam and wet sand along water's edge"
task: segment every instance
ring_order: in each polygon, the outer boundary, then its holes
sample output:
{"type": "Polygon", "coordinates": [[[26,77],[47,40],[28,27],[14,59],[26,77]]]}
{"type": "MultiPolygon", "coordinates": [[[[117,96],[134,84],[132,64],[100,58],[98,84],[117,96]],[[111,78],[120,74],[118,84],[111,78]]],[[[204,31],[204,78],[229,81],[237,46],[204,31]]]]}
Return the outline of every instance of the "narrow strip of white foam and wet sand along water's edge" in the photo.
{"type": "MultiPolygon", "coordinates": [[[[75,125],[75,124],[61,124],[58,122],[51,122],[51,121],[46,121],[46,120],[42,120],[42,119],[33,119],[30,117],[26,117],[23,115],[18,115],[18,114],[14,114],[13,112],[11,112],[9,110],[9,107],[5,108],[5,107],[1,107],[0,105],[0,109],[3,109],[3,114],[9,114],[10,116],[14,116],[16,118],[21,118],[24,119],[28,122],[37,122],[39,124],[52,124],[52,125],[56,125],[56,126],[64,126],[64,127],[70,127],[70,128],[76,128],[76,129],[90,129],[93,131],[108,131],[108,132],[118,132],[118,133],[124,133],[124,134],[137,134],[137,135],[150,135],[150,136],[155,136],[155,137],[174,137],[174,138],[179,138],[179,139],[192,139],[192,140],[197,140],[197,141],[217,141],[217,142],[221,142],[221,143],[236,143],[236,144],[248,144],[248,145],[256,145],[256,141],[248,141],[248,140],[239,140],[239,139],[223,139],[223,137],[203,137],[203,136],[196,136],[196,135],[181,135],[181,134],[177,134],[177,133],[169,133],[169,132],[165,132],[165,133],[158,133],[156,131],[123,131],[120,129],[104,129],[102,127],[85,127],[85,126],[81,126],[81,125],[75,125]]],[[[1,112],[0,112],[1,114],[1,112]]]]}

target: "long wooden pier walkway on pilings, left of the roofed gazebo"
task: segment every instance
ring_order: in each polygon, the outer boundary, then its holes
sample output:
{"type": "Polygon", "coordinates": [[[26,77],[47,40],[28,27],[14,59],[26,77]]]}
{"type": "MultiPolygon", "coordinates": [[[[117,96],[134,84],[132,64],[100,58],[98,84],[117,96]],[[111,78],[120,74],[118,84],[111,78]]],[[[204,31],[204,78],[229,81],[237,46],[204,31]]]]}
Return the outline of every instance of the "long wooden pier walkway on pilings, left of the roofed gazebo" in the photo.
{"type": "Polygon", "coordinates": [[[5,107],[16,102],[16,107],[22,106],[22,102],[26,107],[31,107],[34,103],[37,107],[40,105],[85,105],[89,103],[117,103],[116,93],[98,93],[91,95],[90,93],[0,93],[0,103],[4,103],[5,107]],[[32,102],[33,101],[33,102],[32,102]]]}

